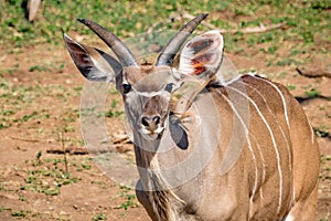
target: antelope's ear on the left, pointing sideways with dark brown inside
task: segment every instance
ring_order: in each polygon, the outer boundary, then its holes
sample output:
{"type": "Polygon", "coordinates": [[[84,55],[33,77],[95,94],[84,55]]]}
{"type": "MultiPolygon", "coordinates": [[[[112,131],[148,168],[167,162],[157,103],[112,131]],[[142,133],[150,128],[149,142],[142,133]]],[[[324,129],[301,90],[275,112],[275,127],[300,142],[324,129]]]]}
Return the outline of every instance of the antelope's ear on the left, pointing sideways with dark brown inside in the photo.
{"type": "Polygon", "coordinates": [[[68,35],[63,36],[67,51],[84,77],[96,82],[113,82],[121,72],[120,63],[98,49],[79,44],[68,35]]]}

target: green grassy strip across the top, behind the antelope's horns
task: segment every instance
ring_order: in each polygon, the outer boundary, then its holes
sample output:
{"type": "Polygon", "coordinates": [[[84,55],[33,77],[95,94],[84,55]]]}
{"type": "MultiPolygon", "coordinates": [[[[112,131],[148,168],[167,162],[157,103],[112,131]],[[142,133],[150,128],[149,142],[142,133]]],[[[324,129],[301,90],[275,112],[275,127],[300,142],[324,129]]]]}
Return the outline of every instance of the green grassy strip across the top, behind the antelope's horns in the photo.
{"type": "MultiPolygon", "coordinates": [[[[4,43],[23,46],[35,43],[52,43],[63,45],[62,32],[75,31],[84,35],[93,35],[77,18],[87,18],[110,29],[120,38],[134,36],[146,32],[150,27],[157,30],[177,30],[183,24],[182,19],[172,23],[164,22],[174,18],[178,12],[195,15],[209,12],[212,15],[207,22],[220,29],[245,29],[260,24],[287,23],[287,29],[243,36],[226,35],[226,48],[234,49],[233,43],[247,39],[248,44],[266,42],[281,43],[284,40],[313,43],[317,34],[330,41],[329,22],[331,15],[330,1],[306,0],[288,2],[277,1],[203,1],[186,0],[150,1],[42,1],[34,22],[26,19],[26,0],[0,1],[3,6],[0,13],[0,39],[4,43]],[[84,7],[82,7],[84,6],[84,7]],[[222,17],[222,14],[227,14],[222,17]]],[[[209,30],[200,25],[199,30],[209,30]]],[[[273,53],[271,49],[271,53],[273,53]]],[[[63,66],[60,69],[63,69],[63,66]]],[[[44,71],[43,66],[32,66],[31,70],[44,71]]]]}

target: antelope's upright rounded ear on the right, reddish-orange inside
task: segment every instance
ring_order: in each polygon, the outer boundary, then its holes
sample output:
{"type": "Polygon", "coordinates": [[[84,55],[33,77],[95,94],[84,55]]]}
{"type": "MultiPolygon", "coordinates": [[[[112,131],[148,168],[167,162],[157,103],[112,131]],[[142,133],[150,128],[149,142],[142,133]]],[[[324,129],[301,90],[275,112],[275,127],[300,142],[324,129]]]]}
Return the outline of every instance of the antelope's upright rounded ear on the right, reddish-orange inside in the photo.
{"type": "Polygon", "coordinates": [[[212,78],[221,66],[223,45],[223,36],[216,30],[194,36],[180,54],[178,73],[182,77],[190,75],[199,80],[212,78]]]}

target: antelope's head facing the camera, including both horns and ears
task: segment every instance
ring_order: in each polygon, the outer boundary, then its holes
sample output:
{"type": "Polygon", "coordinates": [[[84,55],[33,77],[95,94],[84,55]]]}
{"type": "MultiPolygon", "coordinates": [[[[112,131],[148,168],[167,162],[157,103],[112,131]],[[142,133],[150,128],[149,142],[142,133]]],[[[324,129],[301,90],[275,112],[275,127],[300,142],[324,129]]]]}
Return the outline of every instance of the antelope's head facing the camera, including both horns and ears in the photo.
{"type": "Polygon", "coordinates": [[[116,54],[109,54],[75,42],[64,34],[67,50],[83,76],[89,81],[115,82],[122,95],[126,114],[135,136],[160,138],[167,127],[170,99],[183,81],[194,76],[199,81],[212,78],[222,62],[223,38],[210,31],[185,44],[178,65],[174,59],[185,40],[207,14],[200,14],[186,23],[162,49],[157,62],[139,65],[129,49],[99,24],[78,19],[93,30],[116,54]]]}

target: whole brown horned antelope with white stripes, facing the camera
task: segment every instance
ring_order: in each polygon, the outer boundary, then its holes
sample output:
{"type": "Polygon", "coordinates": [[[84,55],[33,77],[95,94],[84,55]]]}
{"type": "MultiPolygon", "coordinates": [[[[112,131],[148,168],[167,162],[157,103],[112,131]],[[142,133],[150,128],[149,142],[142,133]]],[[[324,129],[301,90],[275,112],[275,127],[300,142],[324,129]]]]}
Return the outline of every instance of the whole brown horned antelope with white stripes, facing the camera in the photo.
{"type": "Polygon", "coordinates": [[[207,14],[188,22],[154,64],[139,64],[111,32],[87,19],[116,54],[64,34],[88,81],[115,83],[135,143],[139,202],[153,221],[313,220],[319,147],[288,90],[256,74],[216,77],[223,36],[186,40],[207,14]],[[185,43],[186,42],[186,43],[185,43]],[[188,82],[189,97],[173,98],[188,82]]]}

